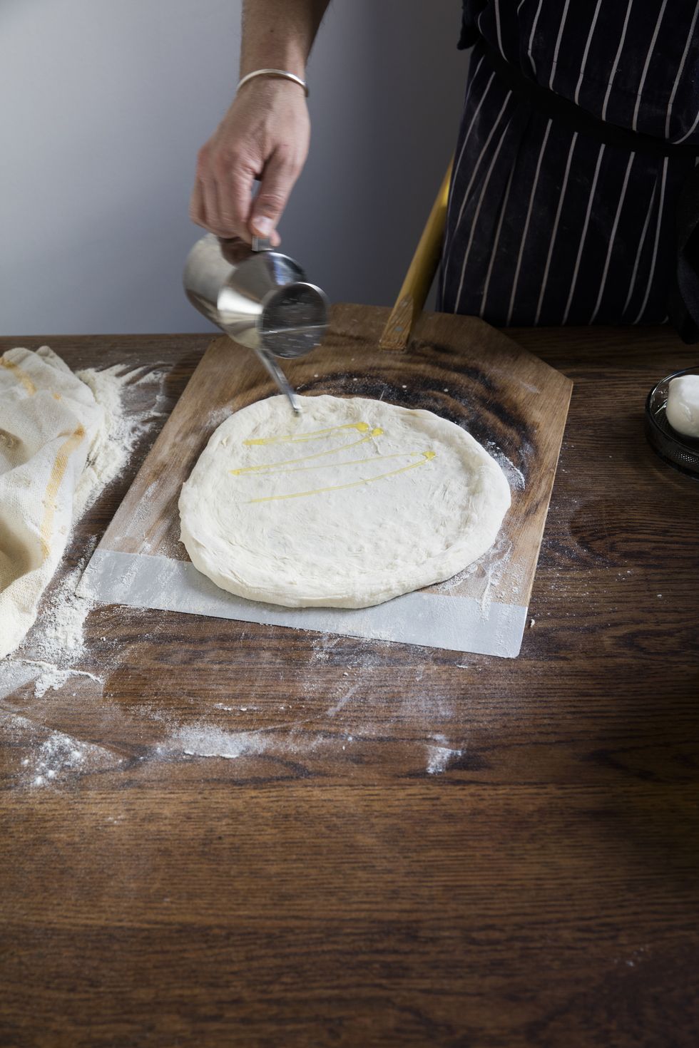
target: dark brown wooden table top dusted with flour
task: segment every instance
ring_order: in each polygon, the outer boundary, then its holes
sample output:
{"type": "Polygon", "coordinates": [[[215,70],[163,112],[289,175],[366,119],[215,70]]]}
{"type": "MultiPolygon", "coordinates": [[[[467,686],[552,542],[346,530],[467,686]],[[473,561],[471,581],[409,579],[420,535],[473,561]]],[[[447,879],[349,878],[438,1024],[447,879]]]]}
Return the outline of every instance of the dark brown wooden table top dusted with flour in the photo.
{"type": "MultiPolygon", "coordinates": [[[[510,333],[575,384],[519,658],[95,607],[103,684],[0,687],[1,1045],[696,1048],[699,348],[510,333]]],[[[160,372],[47,601],[209,341],[0,340],[160,372]]]]}

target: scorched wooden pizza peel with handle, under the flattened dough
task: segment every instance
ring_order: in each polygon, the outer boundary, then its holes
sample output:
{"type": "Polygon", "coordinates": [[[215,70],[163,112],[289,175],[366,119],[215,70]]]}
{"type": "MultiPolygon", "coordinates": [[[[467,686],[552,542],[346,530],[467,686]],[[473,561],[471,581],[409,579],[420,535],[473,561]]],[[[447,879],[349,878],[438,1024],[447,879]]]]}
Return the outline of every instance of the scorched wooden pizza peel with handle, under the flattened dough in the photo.
{"type": "Polygon", "coordinates": [[[179,542],[179,490],[223,419],[277,393],[254,354],[224,335],[206,349],[109,524],[82,592],[107,604],[519,654],[572,383],[477,318],[420,312],[439,258],[449,176],[394,308],[334,306],[322,345],[285,370],[306,396],[372,397],[466,429],[510,484],[512,504],[495,546],[460,575],[375,608],[281,608],[215,586],[179,542]]]}

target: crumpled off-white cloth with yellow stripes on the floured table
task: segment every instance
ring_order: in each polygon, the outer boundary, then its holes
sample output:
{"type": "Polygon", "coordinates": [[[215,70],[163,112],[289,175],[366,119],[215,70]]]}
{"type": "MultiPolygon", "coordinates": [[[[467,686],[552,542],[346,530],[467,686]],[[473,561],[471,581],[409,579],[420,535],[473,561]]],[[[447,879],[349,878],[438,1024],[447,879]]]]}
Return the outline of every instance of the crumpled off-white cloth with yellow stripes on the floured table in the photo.
{"type": "Polygon", "coordinates": [[[48,346],[0,356],[0,658],[37,617],[103,425],[92,390],[48,346]]]}

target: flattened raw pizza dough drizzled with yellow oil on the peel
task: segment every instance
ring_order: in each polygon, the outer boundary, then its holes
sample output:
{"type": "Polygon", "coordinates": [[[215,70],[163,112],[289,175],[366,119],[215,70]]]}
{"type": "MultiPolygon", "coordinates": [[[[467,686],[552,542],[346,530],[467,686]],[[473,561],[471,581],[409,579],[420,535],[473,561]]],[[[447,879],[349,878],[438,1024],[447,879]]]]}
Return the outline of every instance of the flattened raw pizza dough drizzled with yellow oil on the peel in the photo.
{"type": "Polygon", "coordinates": [[[509,506],[497,462],[430,411],[283,396],[212,435],[179,498],[181,541],[217,586],[287,607],[365,608],[450,578],[509,506]]]}

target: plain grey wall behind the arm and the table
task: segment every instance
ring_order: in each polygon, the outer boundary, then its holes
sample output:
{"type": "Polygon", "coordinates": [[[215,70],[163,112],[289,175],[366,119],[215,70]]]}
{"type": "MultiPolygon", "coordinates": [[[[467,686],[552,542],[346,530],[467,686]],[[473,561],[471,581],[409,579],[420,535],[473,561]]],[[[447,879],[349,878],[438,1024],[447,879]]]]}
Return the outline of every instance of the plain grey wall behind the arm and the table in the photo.
{"type": "MultiPolygon", "coordinates": [[[[454,149],[459,0],[334,0],[280,233],[332,301],[390,304],[454,149]]],[[[197,331],[181,292],[198,147],[239,0],[2,0],[0,332],[197,331]]]]}

